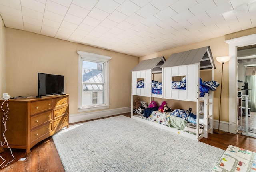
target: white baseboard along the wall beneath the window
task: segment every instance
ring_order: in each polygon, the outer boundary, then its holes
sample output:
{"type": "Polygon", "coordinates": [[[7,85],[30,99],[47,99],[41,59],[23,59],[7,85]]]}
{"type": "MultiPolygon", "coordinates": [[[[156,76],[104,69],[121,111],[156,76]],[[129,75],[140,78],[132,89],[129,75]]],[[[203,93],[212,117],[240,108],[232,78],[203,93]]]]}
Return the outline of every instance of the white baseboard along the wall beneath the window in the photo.
{"type": "Polygon", "coordinates": [[[128,112],[131,112],[131,107],[122,107],[122,108],[108,109],[103,111],[71,114],[69,115],[69,123],[76,123],[76,122],[81,122],[81,121],[86,121],[91,119],[109,117],[111,115],[117,115],[117,114],[128,113],[128,112]]]}

